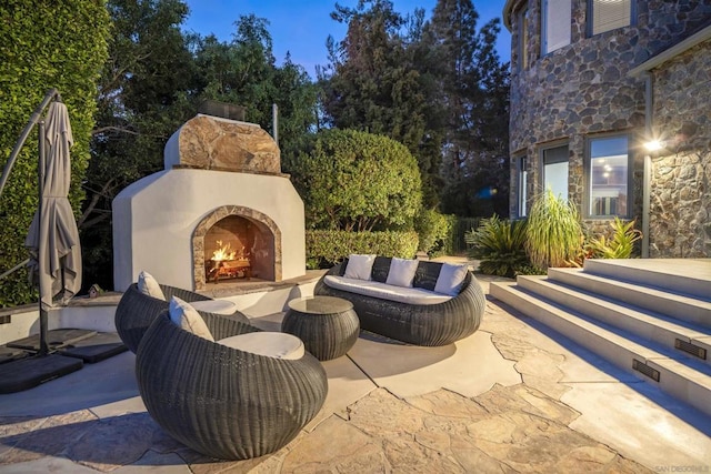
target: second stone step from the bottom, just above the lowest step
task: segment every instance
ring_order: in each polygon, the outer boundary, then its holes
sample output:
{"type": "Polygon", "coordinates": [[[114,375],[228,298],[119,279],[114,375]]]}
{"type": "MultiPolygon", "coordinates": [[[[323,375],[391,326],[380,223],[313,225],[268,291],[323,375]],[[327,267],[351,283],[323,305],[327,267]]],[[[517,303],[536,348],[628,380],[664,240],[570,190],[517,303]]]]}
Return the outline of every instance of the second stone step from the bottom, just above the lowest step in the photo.
{"type": "Polygon", "coordinates": [[[711,329],[602,297],[597,292],[569,286],[550,276],[519,276],[518,286],[637,336],[662,344],[679,355],[694,356],[711,365],[711,329]]]}

